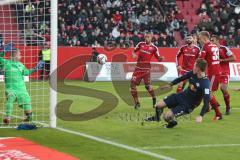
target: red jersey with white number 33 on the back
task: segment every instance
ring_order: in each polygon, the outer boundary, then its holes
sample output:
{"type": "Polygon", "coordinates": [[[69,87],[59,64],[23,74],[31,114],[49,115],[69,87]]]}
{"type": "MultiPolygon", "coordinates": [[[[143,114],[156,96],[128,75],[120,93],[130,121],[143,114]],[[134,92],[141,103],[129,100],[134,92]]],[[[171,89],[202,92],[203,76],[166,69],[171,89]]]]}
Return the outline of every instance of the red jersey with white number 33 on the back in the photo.
{"type": "Polygon", "coordinates": [[[203,58],[207,61],[209,76],[221,74],[219,48],[217,45],[211,42],[204,44],[200,58],[203,58]]]}

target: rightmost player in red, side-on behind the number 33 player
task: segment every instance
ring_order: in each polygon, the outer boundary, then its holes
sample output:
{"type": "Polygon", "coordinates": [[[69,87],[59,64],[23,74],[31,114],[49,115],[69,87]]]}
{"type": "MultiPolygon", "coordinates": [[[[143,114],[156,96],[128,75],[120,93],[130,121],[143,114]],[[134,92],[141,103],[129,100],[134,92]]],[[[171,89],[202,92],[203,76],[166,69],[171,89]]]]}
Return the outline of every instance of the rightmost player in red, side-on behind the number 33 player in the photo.
{"type": "Polygon", "coordinates": [[[228,83],[230,76],[229,62],[233,62],[236,60],[235,55],[230,51],[230,49],[226,46],[220,45],[220,38],[216,35],[211,36],[211,41],[216,44],[219,48],[219,56],[220,56],[220,66],[222,69],[222,74],[220,77],[220,89],[223,93],[223,98],[226,105],[226,115],[230,114],[230,95],[228,93],[228,83]]]}

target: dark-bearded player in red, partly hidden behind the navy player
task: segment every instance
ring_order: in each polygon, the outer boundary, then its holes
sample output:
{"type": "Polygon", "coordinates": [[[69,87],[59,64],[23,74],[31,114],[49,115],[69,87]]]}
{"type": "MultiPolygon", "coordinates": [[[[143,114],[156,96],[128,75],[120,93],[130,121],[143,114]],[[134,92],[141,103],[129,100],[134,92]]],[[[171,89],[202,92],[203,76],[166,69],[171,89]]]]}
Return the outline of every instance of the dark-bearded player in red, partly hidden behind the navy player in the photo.
{"type": "MultiPolygon", "coordinates": [[[[192,35],[186,37],[186,45],[183,45],[177,55],[176,55],[176,65],[179,76],[191,71],[193,66],[200,56],[200,48],[195,45],[194,38],[192,35]],[[180,63],[180,58],[182,57],[182,63],[180,63]]],[[[187,81],[179,83],[177,87],[177,93],[182,92],[187,81]]]]}

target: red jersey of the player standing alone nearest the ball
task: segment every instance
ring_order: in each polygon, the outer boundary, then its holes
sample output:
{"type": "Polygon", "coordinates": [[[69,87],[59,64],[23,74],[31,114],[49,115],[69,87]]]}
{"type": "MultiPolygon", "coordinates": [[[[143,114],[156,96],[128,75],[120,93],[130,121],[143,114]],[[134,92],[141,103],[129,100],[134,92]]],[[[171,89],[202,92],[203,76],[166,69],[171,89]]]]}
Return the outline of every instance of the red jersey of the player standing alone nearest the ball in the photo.
{"type": "Polygon", "coordinates": [[[139,42],[134,51],[138,52],[137,67],[141,69],[151,68],[150,62],[153,55],[157,59],[160,57],[158,48],[152,43],[148,45],[146,42],[139,42]]]}

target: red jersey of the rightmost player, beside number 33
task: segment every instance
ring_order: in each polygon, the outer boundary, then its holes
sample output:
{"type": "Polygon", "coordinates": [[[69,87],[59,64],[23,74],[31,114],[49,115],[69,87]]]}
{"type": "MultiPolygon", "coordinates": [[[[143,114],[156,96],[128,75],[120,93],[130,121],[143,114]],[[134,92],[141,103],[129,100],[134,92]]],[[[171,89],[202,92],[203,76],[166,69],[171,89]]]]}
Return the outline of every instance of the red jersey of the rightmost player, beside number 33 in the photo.
{"type": "MultiPolygon", "coordinates": [[[[220,59],[226,59],[232,55],[233,53],[232,51],[230,51],[228,47],[222,46],[222,45],[219,47],[220,59]]],[[[229,62],[220,62],[220,66],[221,66],[223,75],[230,75],[229,62]]]]}

